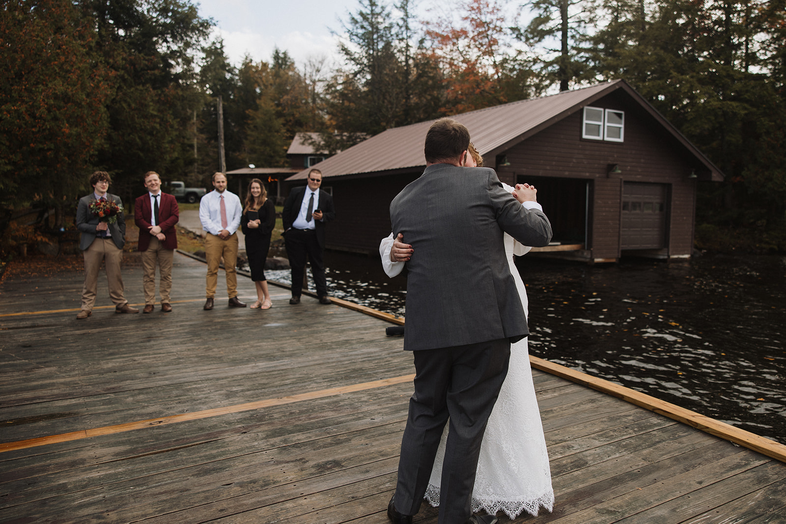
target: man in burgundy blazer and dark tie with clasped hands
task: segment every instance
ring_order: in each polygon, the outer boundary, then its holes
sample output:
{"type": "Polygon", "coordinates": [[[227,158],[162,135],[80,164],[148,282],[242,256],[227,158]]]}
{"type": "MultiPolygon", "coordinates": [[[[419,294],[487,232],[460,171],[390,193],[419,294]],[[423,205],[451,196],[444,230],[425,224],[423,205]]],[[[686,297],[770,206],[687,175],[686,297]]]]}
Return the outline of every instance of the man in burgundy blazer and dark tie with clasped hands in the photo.
{"type": "Polygon", "coordinates": [[[148,189],[134,204],[134,222],[139,228],[139,251],[142,253],[142,284],[145,288],[145,309],[152,313],[156,303],[156,262],[160,273],[161,310],[172,310],[169,293],[172,289],[172,261],[178,247],[174,225],[178,223],[178,201],[161,191],[161,178],[155,171],[145,173],[148,189]]]}

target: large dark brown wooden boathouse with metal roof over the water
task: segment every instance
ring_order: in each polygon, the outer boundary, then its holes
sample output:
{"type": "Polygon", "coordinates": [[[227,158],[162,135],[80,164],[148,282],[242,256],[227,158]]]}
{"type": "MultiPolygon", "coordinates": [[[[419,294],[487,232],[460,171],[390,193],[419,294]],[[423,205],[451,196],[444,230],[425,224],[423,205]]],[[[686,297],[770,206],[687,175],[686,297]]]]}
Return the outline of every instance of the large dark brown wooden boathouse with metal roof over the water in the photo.
{"type": "MultiPolygon", "coordinates": [[[[485,165],[538,188],[553,244],[533,249],[586,262],[622,255],[688,258],[696,181],[722,173],[622,80],[455,115],[485,165]]],[[[315,167],[332,192],[327,247],[375,253],[393,197],[424,170],[433,121],[396,127],[315,167]]],[[[288,178],[304,183],[308,169],[288,178]]],[[[405,239],[406,240],[406,239],[405,239]]]]}

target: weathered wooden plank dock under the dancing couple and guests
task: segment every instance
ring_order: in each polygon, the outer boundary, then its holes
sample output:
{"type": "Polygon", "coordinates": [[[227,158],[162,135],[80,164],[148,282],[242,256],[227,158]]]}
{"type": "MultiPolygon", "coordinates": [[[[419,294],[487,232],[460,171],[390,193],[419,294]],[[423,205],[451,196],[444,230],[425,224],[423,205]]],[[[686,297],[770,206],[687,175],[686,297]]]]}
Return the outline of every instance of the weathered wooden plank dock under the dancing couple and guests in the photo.
{"type": "MultiPolygon", "coordinates": [[[[133,256],[123,279],[138,303],[133,256]]],[[[0,522],[387,522],[411,383],[327,393],[413,372],[402,339],[384,336],[385,317],[308,297],[289,306],[277,287],[271,310],[230,310],[219,298],[204,312],[204,265],[177,255],[174,274],[173,313],[108,306],[86,321],[74,318],[79,272],[0,284],[0,522]],[[314,396],[276,404],[304,393],[314,396]],[[259,401],[266,407],[233,411],[259,401]],[[2,451],[215,408],[222,414],[2,451]]],[[[254,299],[250,280],[239,288],[254,299]]],[[[786,521],[786,464],[581,383],[597,387],[592,379],[538,368],[533,379],[556,503],[516,522],[786,521]]],[[[436,522],[435,509],[424,504],[415,522],[436,522]]]]}

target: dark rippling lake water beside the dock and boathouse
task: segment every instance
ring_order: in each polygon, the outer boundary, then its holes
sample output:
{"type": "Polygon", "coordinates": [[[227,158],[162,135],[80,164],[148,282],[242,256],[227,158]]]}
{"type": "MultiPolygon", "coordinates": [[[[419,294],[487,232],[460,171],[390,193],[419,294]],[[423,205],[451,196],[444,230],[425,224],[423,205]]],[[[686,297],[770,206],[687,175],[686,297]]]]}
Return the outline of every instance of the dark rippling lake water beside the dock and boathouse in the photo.
{"type": "MultiPolygon", "coordinates": [[[[406,280],[328,252],[332,296],[404,315],[406,280]]],[[[530,352],[786,444],[786,257],[517,261],[530,352]]],[[[288,281],[288,271],[267,272],[288,281]]]]}

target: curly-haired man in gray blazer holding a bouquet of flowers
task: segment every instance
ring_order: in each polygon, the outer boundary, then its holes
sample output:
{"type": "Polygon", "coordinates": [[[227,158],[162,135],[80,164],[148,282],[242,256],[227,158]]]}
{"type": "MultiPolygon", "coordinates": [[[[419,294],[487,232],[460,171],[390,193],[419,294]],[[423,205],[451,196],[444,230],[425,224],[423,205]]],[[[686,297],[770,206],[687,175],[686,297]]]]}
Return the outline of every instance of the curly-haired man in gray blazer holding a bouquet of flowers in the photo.
{"type": "Polygon", "coordinates": [[[82,310],[76,315],[80,320],[90,317],[93,312],[101,260],[105,261],[109,298],[115,304],[115,313],[139,313],[128,305],[123,296],[120,261],[123,259],[123,244],[126,243],[126,219],[120,197],[107,192],[111,181],[106,171],[90,175],[93,194],[80,198],[76,208],[76,229],[82,232],[79,249],[85,258],[82,310]]]}

